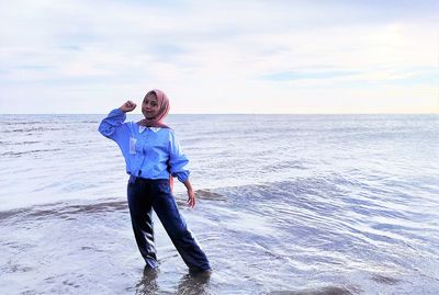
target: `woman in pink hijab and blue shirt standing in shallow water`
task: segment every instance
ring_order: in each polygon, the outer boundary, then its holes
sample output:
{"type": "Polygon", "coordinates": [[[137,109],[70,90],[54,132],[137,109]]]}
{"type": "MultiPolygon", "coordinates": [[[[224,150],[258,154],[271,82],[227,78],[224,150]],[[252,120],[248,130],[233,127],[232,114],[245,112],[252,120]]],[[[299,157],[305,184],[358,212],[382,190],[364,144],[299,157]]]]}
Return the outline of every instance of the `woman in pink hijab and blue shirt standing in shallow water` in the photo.
{"type": "Polygon", "coordinates": [[[136,104],[125,102],[102,120],[99,132],[117,143],[130,174],[127,198],[134,236],[146,269],[158,268],[154,246],[153,208],[191,272],[210,272],[201,250],[172,196],[172,177],[188,190],[188,204],[195,206],[195,194],[185,169],[188,158],[181,151],[173,131],[162,123],[169,112],[169,100],[160,90],[149,91],[143,101],[145,118],[124,123],[136,104]]]}

